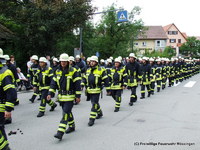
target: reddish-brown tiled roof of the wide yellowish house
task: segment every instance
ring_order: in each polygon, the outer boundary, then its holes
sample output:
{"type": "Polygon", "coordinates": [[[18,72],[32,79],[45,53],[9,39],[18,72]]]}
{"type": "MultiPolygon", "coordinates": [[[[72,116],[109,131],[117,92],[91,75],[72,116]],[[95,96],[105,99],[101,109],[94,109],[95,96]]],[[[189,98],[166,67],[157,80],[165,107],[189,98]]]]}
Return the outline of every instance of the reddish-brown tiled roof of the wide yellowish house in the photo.
{"type": "Polygon", "coordinates": [[[144,30],[138,39],[168,39],[162,26],[145,26],[147,30],[144,30]]]}

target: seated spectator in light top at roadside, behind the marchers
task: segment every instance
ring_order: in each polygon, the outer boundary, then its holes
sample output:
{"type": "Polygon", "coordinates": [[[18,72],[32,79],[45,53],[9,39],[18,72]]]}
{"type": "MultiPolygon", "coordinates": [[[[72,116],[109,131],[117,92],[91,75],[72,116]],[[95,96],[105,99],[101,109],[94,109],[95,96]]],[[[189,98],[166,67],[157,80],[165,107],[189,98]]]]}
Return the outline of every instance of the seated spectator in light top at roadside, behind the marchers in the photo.
{"type": "Polygon", "coordinates": [[[19,82],[19,91],[22,90],[22,87],[23,85],[26,87],[26,90],[30,90],[31,89],[31,86],[30,86],[30,82],[29,80],[24,76],[24,74],[21,72],[21,69],[20,68],[17,68],[17,75],[20,79],[20,82],[19,82]]]}

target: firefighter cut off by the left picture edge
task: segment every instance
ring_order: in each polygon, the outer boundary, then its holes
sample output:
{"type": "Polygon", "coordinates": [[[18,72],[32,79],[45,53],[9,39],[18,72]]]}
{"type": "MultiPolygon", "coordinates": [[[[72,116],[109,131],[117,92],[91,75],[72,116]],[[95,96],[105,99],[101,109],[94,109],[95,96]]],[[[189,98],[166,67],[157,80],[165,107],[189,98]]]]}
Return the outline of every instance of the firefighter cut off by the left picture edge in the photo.
{"type": "Polygon", "coordinates": [[[5,118],[11,118],[11,111],[14,110],[17,92],[13,82],[13,74],[5,64],[3,50],[0,48],[0,149],[10,150],[4,122],[5,118]]]}

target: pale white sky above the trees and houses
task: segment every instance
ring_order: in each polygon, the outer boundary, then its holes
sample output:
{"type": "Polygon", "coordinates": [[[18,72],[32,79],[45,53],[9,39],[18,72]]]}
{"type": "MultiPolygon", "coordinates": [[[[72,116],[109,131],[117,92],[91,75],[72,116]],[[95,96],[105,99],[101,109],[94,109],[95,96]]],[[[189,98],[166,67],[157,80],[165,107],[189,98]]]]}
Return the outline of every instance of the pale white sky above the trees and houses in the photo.
{"type": "MultiPolygon", "coordinates": [[[[174,23],[181,32],[188,36],[200,36],[200,0],[93,0],[96,12],[101,12],[112,3],[117,8],[123,7],[130,12],[139,6],[144,25],[165,26],[174,23]]],[[[97,23],[101,15],[95,15],[93,22],[97,23]]]]}

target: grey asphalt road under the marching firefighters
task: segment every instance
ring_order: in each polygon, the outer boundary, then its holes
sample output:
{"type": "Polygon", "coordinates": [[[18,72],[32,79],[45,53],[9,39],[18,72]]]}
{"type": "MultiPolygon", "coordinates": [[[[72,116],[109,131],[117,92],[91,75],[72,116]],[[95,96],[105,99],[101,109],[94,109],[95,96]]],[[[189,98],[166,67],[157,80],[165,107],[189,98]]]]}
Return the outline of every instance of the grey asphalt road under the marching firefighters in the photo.
{"type": "MultiPolygon", "coordinates": [[[[8,136],[12,150],[199,150],[199,89],[200,75],[196,75],[150,98],[138,99],[132,107],[128,105],[130,91],[125,90],[117,113],[114,101],[104,92],[100,100],[104,116],[92,127],[87,125],[91,104],[83,94],[81,103],[73,108],[76,131],[65,134],[62,141],[53,137],[61,108],[49,112],[47,106],[45,116],[37,118],[40,101],[32,104],[28,100],[32,92],[21,92],[20,105],[15,107],[13,123],[6,126],[6,132],[17,131],[8,136]]],[[[140,87],[140,97],[139,92],[140,87]]]]}

